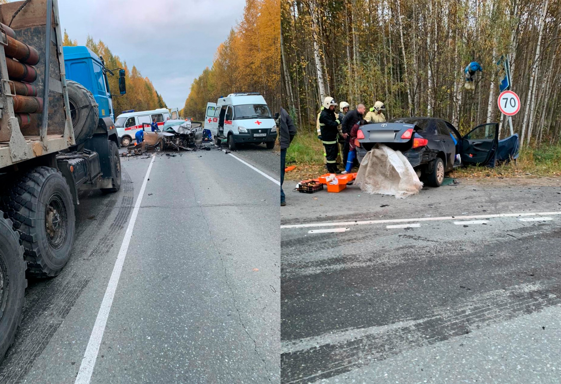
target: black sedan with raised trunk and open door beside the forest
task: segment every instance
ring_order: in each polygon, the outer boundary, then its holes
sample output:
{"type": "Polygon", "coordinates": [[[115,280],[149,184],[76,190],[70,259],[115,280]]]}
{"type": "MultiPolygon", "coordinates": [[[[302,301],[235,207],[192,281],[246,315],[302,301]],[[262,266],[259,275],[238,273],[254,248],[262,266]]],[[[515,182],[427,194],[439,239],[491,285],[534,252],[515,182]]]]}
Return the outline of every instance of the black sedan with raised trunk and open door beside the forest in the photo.
{"type": "Polygon", "coordinates": [[[361,161],[376,143],[400,150],[426,184],[440,186],[444,173],[461,164],[486,165],[498,147],[499,124],[482,124],[461,136],[448,121],[434,117],[403,117],[365,124],[357,132],[361,161]],[[459,156],[457,156],[459,155],[459,156]]]}

